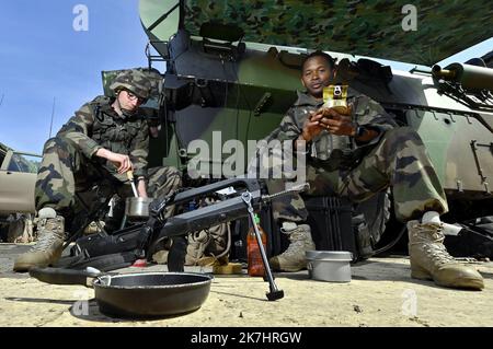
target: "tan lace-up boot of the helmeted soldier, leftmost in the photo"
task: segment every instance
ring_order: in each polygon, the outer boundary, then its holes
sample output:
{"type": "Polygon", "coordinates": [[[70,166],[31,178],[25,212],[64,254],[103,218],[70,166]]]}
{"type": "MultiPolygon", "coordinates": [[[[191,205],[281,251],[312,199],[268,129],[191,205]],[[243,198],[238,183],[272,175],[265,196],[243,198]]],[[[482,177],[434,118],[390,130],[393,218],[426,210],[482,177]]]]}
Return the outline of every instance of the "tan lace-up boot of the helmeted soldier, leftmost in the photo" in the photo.
{"type": "Polygon", "coordinates": [[[56,263],[62,252],[65,220],[54,209],[44,208],[38,212],[38,240],[31,249],[20,255],[13,266],[18,272],[28,271],[32,267],[47,267],[56,263]]]}

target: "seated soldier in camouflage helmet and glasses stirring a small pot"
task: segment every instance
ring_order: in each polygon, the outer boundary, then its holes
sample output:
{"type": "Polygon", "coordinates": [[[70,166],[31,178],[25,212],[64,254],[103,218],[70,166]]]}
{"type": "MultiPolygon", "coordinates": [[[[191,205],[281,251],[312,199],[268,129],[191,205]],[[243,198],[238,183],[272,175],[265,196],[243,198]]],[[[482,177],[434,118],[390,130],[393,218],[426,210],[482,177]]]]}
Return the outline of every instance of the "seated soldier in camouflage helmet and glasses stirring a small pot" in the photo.
{"type": "Polygon", "coordinates": [[[111,84],[114,97],[98,96],[84,104],[45,143],[35,187],[38,241],[18,257],[15,271],[46,267],[60,257],[66,232],[80,228],[72,222],[91,208],[82,197],[96,193],[94,188],[105,198],[117,194],[124,201],[133,196],[128,171],[137,177],[139,197],[168,195],[181,185],[173,167],[147,168],[149,127],[140,106],[151,88],[142,71],[119,73],[111,84]]]}

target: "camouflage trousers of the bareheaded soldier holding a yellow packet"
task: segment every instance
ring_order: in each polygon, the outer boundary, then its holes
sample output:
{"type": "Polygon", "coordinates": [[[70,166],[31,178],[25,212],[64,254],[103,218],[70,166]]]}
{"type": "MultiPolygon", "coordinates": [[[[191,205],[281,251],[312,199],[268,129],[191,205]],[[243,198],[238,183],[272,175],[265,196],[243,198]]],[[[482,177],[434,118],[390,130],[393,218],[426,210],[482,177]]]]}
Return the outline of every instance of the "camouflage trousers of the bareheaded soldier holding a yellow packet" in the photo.
{"type": "MultiPolygon", "coordinates": [[[[275,161],[271,161],[274,165],[275,161]]],[[[341,196],[362,202],[391,187],[395,218],[402,222],[420,218],[425,211],[448,211],[444,189],[426,154],[420,136],[408,127],[387,131],[372,150],[352,170],[325,171],[307,162],[306,178],[312,196],[341,196]]],[[[284,190],[286,181],[268,179],[271,194],[284,190]]],[[[299,195],[273,202],[274,218],[306,221],[308,211],[299,195]]]]}

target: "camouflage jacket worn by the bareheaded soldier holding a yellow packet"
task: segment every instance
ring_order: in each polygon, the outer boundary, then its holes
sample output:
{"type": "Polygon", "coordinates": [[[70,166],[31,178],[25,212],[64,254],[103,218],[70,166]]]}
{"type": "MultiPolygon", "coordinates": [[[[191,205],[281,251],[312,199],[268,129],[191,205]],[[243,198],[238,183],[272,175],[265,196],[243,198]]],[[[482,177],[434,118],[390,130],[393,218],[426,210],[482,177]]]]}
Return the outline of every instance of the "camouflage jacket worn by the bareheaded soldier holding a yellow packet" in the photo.
{"type": "MultiPolygon", "coordinates": [[[[347,104],[353,107],[352,118],[358,125],[379,132],[378,137],[369,142],[356,142],[353,137],[334,136],[323,130],[317,136],[309,148],[308,163],[325,167],[351,168],[356,165],[378,141],[386,130],[397,126],[383,107],[370,97],[348,89],[347,104]]],[[[298,100],[284,116],[277,129],[267,136],[266,141],[274,139],[285,141],[295,140],[301,135],[305,120],[309,112],[317,110],[323,105],[309,94],[298,92],[298,100]]]]}

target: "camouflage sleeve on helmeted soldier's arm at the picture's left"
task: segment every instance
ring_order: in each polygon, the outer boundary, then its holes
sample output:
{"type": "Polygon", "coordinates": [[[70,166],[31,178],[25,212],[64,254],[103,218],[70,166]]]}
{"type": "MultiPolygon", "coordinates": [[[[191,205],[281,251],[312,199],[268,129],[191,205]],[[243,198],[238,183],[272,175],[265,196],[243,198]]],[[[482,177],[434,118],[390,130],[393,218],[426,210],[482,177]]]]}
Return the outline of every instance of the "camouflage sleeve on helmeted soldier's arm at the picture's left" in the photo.
{"type": "Polygon", "coordinates": [[[93,124],[94,116],[92,108],[91,105],[87,103],[76,112],[76,115],[72,116],[67,124],[64,125],[57,136],[71,142],[87,158],[91,159],[94,153],[102,148],[90,138],[93,124]]]}

